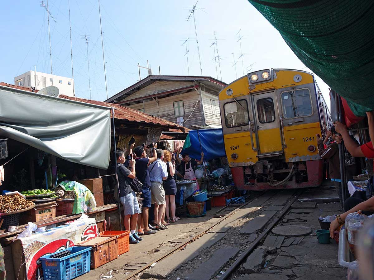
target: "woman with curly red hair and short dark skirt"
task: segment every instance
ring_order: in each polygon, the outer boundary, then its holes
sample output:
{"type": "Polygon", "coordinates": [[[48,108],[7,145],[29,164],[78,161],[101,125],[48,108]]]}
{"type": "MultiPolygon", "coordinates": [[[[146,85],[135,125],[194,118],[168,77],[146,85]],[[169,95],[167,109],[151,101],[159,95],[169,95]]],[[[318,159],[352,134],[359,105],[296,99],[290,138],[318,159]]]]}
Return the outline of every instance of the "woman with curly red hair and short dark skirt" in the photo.
{"type": "Polygon", "coordinates": [[[168,223],[175,223],[177,221],[177,218],[175,218],[175,195],[177,194],[177,184],[175,184],[174,180],[175,166],[171,162],[171,153],[167,150],[164,150],[164,162],[166,163],[166,169],[168,170],[168,178],[163,184],[166,200],[166,221],[168,223]]]}

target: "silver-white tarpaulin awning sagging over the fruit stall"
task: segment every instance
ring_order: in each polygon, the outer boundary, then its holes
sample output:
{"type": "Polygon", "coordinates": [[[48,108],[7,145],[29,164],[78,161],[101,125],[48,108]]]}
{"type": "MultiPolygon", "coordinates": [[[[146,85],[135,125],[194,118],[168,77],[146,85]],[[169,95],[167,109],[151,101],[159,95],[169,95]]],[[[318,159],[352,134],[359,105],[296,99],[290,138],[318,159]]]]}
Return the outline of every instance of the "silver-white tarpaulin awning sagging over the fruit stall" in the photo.
{"type": "Polygon", "coordinates": [[[110,109],[0,86],[0,135],[67,161],[107,169],[110,109]]]}

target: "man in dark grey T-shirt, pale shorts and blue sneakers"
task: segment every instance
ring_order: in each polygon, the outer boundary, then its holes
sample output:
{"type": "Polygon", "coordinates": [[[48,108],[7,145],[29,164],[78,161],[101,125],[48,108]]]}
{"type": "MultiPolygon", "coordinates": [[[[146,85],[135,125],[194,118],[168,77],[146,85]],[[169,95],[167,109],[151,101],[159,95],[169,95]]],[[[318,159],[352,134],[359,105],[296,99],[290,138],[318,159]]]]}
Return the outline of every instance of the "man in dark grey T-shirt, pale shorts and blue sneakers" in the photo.
{"type": "Polygon", "coordinates": [[[119,199],[123,206],[125,217],[123,224],[126,230],[130,230],[130,244],[139,243],[142,239],[135,232],[140,213],[139,203],[135,192],[131,189],[131,180],[135,178],[135,159],[129,161],[129,169],[123,165],[126,161],[123,150],[116,151],[117,174],[119,182],[119,199]]]}

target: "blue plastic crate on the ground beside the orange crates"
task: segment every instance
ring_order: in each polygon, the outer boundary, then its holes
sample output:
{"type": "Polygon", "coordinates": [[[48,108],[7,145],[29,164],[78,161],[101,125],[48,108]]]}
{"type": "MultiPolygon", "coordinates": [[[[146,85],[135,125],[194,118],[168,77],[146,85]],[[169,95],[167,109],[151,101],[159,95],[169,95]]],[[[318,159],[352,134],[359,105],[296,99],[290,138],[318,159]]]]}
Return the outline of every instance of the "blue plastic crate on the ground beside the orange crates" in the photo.
{"type": "Polygon", "coordinates": [[[91,247],[73,246],[68,249],[45,255],[40,258],[45,280],[70,280],[90,271],[91,247]],[[70,251],[63,258],[50,258],[56,253],[70,251]]]}

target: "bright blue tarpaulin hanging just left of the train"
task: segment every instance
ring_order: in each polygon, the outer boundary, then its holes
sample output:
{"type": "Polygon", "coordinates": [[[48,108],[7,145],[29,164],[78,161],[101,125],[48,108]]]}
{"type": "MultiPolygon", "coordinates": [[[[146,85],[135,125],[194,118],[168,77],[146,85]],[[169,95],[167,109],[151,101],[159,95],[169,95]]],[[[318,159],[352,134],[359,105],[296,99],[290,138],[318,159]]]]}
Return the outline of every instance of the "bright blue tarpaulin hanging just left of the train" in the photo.
{"type": "Polygon", "coordinates": [[[205,161],[226,156],[222,129],[190,130],[184,142],[182,155],[188,153],[191,158],[200,159],[201,149],[205,161]]]}

